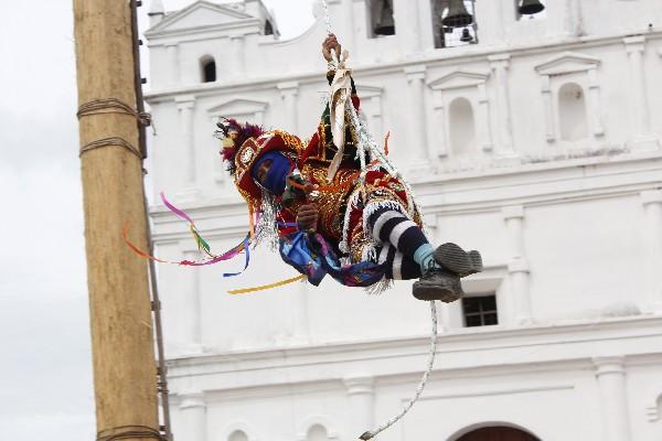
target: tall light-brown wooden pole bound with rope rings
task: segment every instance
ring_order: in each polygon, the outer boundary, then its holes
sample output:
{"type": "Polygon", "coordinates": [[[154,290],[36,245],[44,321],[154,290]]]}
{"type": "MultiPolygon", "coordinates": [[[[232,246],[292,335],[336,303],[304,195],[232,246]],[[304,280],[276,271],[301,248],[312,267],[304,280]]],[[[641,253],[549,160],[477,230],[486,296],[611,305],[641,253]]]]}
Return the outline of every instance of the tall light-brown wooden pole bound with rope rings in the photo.
{"type": "MultiPolygon", "coordinates": [[[[73,2],[78,104],[113,98],[134,108],[129,1],[73,2]]],[[[136,117],[117,108],[82,116],[79,138],[98,438],[158,439],[148,269],[122,240],[128,222],[148,248],[136,117]]]]}

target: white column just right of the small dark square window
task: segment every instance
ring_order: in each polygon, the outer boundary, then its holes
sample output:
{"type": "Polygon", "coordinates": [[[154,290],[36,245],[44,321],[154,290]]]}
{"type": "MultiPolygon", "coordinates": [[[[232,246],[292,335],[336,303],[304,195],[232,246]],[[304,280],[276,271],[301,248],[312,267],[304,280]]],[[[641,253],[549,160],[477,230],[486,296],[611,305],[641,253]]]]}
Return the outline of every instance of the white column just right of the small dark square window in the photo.
{"type": "Polygon", "coordinates": [[[531,313],[530,270],[524,250],[524,207],[503,207],[501,211],[508,230],[510,262],[508,272],[513,294],[513,320],[515,325],[533,323],[531,313]]]}

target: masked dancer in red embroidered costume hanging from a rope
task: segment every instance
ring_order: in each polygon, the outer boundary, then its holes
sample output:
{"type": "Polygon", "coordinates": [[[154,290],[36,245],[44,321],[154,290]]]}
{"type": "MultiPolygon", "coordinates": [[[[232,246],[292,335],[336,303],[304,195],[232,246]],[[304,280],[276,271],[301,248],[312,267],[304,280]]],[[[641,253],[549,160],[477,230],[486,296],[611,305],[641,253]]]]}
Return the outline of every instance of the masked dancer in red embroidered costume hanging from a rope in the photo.
{"type": "Polygon", "coordinates": [[[419,300],[461,298],[460,278],[482,270],[480,254],[451,243],[435,249],[406,183],[378,159],[361,161],[360,133],[345,111],[360,110],[360,99],[350,71],[333,65],[333,52],[341,58],[340,43],[329,35],[322,54],[331,99],[307,144],[282,130],[218,123],[223,159],[259,215],[257,238],[277,243],[282,259],[316,286],[327,273],[372,291],[418,279],[413,293],[419,300]]]}

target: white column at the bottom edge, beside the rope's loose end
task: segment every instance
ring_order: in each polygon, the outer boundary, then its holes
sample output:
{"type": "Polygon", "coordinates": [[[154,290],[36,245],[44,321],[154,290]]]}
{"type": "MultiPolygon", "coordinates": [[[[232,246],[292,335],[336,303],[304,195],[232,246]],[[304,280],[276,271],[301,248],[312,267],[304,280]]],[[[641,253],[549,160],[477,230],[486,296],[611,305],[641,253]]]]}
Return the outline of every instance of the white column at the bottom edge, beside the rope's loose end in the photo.
{"type": "Polygon", "coordinates": [[[345,377],[350,405],[350,439],[357,439],[374,426],[374,379],[371,376],[345,377]]]}

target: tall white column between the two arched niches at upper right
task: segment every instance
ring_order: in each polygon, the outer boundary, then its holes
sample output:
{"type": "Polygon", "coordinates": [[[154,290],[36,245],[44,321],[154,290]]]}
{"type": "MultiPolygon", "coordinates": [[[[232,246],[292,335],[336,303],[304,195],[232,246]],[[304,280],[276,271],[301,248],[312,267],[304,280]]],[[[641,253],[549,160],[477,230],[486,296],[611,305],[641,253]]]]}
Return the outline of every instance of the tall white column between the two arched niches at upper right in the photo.
{"type": "Polygon", "coordinates": [[[488,56],[490,67],[496,82],[496,127],[499,127],[499,148],[496,154],[501,158],[513,158],[513,130],[511,125],[510,92],[508,87],[508,69],[510,55],[499,54],[488,56]]]}

